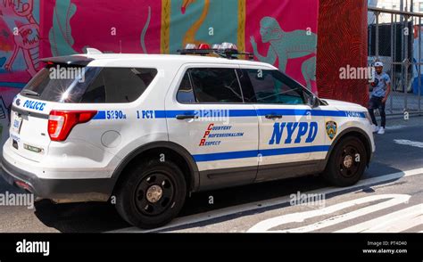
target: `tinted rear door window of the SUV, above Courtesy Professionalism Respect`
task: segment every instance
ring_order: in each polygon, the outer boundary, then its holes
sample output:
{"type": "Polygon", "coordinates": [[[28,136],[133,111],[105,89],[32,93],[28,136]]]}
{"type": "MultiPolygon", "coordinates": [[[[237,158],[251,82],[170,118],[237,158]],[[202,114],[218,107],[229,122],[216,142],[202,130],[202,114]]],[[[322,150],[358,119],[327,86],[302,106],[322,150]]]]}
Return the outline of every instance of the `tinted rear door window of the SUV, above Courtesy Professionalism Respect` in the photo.
{"type": "Polygon", "coordinates": [[[177,94],[178,102],[243,102],[235,69],[189,69],[177,94]]]}

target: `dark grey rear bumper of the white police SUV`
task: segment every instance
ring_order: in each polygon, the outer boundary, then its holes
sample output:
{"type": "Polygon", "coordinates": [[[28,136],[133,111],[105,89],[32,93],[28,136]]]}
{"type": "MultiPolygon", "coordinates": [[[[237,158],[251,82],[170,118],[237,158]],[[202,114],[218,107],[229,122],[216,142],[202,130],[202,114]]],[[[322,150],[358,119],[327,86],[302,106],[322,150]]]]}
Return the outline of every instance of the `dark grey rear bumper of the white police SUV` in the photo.
{"type": "Polygon", "coordinates": [[[92,179],[45,179],[13,166],[0,155],[0,175],[8,184],[35,194],[38,199],[55,202],[108,201],[112,195],[115,180],[112,178],[92,179]]]}

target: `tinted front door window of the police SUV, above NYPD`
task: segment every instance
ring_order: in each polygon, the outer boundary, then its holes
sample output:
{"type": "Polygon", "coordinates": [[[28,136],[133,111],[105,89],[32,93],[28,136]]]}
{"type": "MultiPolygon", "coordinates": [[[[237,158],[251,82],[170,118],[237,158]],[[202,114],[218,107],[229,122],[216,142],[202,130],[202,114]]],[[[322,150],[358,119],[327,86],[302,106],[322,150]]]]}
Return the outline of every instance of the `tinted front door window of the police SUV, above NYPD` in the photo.
{"type": "Polygon", "coordinates": [[[258,103],[304,104],[303,86],[278,70],[243,70],[250,78],[258,103]]]}

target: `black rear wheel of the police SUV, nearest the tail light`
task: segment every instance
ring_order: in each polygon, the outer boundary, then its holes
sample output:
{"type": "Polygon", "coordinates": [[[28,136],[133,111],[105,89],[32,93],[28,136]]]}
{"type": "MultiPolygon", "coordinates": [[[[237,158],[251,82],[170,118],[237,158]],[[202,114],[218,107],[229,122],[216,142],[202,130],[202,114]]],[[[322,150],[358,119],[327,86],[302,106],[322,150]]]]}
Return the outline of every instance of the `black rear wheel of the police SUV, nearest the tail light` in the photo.
{"type": "Polygon", "coordinates": [[[129,224],[145,229],[160,227],[182,209],[187,184],[174,163],[148,160],[123,175],[115,191],[116,209],[129,224]],[[149,198],[147,192],[150,192],[149,198]],[[154,194],[156,198],[152,198],[154,194]]]}

